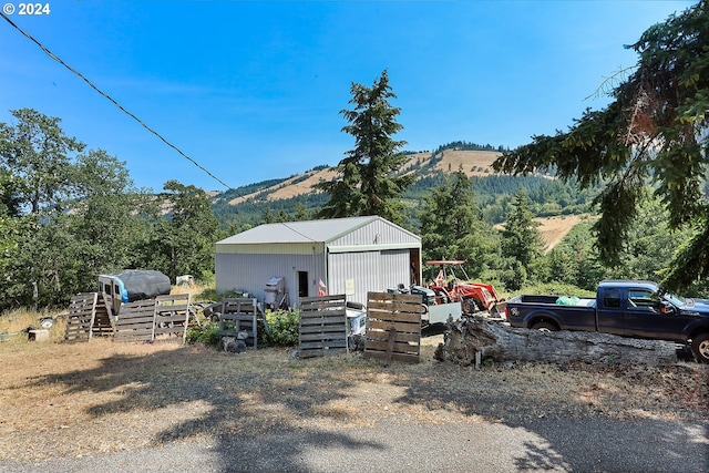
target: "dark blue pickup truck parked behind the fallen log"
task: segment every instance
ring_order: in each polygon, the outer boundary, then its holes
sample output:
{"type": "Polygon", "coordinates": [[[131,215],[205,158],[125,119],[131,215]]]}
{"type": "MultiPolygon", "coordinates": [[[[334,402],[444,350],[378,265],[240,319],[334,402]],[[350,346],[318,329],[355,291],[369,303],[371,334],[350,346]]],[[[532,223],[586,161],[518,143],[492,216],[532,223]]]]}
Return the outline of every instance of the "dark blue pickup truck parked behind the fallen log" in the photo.
{"type": "Polygon", "coordinates": [[[685,343],[709,363],[709,300],[665,292],[650,281],[607,280],[595,299],[516,296],[505,309],[512,327],[584,330],[685,343]]]}

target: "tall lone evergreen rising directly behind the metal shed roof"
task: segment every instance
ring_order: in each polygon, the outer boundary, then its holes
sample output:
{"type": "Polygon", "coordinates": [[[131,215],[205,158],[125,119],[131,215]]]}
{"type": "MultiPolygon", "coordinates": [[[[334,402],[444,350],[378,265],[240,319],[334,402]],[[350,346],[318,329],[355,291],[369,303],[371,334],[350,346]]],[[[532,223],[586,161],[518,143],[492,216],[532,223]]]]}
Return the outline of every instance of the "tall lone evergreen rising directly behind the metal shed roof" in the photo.
{"type": "Polygon", "coordinates": [[[354,148],[336,167],[339,177],[314,187],[330,195],[318,212],[320,218],[379,215],[401,223],[403,205],[399,197],[414,181],[412,174],[399,175],[407,156],[399,150],[405,144],[393,140],[403,126],[397,123],[400,109],[389,103],[395,95],[387,71],[371,88],[353,83],[352,110],[342,110],[349,125],[345,133],[354,136],[354,148]]]}

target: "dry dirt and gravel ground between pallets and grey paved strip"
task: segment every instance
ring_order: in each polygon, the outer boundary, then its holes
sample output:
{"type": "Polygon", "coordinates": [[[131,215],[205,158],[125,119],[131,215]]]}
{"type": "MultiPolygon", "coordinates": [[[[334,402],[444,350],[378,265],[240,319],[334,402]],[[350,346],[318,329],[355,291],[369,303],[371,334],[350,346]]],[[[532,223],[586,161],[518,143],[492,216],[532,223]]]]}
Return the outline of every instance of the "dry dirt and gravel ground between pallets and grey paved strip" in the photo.
{"type": "Polygon", "coordinates": [[[0,461],[131,451],[274,429],[342,431],[537,418],[706,420],[709,367],[492,363],[382,367],[361,353],[294,348],[223,353],[202,345],[0,342],[0,461]]]}

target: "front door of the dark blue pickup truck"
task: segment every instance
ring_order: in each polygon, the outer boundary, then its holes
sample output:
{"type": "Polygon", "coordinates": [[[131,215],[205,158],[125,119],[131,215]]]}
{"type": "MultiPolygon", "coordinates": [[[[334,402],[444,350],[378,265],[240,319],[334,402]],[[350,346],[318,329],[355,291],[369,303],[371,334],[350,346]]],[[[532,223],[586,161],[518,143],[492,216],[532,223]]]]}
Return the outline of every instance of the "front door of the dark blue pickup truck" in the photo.
{"type": "Polygon", "coordinates": [[[625,335],[636,338],[682,341],[688,322],[677,311],[664,313],[660,296],[649,289],[628,289],[625,309],[625,335]]]}

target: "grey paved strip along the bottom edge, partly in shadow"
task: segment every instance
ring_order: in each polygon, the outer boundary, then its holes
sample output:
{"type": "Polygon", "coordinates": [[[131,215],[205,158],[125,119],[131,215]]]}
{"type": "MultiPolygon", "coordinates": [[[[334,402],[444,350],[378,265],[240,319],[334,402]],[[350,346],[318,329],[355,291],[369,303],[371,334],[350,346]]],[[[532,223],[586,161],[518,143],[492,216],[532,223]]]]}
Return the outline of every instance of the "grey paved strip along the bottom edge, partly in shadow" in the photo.
{"type": "Polygon", "coordinates": [[[179,441],[6,472],[709,472],[709,422],[537,419],[397,424],[179,441]]]}

